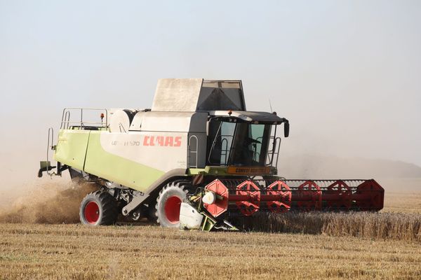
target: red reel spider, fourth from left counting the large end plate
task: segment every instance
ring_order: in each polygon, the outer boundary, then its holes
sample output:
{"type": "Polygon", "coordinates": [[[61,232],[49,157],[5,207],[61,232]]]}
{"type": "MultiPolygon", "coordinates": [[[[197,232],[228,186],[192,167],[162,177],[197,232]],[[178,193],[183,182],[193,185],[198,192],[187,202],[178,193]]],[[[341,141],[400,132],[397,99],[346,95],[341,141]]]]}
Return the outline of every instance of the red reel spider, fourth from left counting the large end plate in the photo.
{"type": "Polygon", "coordinates": [[[314,181],[305,181],[298,186],[298,208],[302,211],[321,209],[321,188],[314,181]]]}

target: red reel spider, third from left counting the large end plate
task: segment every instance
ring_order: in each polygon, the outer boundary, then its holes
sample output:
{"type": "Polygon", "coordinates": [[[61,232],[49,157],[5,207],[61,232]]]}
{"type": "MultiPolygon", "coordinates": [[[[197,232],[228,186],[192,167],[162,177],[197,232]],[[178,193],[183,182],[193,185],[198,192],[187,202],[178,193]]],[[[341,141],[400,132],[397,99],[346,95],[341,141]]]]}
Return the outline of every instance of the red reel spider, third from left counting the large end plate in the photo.
{"type": "Polygon", "coordinates": [[[291,189],[283,181],[276,181],[267,187],[267,195],[281,196],[281,200],[266,202],[267,207],[274,213],[285,213],[291,208],[291,189]]]}

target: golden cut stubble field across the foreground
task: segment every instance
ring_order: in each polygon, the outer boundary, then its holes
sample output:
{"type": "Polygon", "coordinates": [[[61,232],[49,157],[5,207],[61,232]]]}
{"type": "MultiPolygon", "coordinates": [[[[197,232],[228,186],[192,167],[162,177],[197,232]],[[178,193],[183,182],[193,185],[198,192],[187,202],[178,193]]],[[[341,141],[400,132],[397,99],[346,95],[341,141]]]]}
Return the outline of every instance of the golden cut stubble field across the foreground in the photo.
{"type": "Polygon", "coordinates": [[[421,244],[156,226],[0,224],[3,279],[420,279],[421,244]]]}

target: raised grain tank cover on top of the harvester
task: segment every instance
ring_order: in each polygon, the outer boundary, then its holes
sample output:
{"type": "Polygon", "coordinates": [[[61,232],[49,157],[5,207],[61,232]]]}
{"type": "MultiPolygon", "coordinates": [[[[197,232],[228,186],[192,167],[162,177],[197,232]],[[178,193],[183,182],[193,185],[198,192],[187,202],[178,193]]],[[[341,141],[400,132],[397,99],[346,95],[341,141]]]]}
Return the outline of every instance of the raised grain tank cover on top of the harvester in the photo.
{"type": "Polygon", "coordinates": [[[241,80],[159,79],[152,111],[246,111],[241,80]]]}

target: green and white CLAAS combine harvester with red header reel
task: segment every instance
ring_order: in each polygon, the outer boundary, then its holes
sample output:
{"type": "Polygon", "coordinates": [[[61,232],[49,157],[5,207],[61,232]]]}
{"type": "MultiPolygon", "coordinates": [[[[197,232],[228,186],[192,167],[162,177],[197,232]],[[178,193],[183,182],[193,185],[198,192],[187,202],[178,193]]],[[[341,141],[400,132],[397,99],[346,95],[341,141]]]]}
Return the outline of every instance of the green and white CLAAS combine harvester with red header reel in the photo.
{"type": "Polygon", "coordinates": [[[371,180],[286,180],[278,176],[276,113],[246,111],[241,80],[161,79],[152,109],[63,110],[56,166],[39,176],[93,183],[81,202],[86,225],[122,214],[168,228],[233,230],[257,211],[379,211],[384,190],[371,180]],[[95,112],[97,121],[88,121],[95,112]]]}

